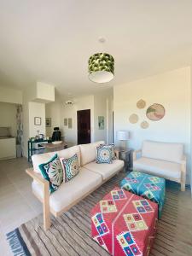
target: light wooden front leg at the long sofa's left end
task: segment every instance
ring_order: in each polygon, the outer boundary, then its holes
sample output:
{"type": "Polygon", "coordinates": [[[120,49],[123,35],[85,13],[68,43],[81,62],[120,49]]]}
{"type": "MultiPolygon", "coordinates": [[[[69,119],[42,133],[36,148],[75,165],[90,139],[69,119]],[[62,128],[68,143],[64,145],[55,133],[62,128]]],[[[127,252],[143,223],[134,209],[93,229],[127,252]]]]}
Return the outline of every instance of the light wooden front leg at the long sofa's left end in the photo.
{"type": "Polygon", "coordinates": [[[49,212],[49,185],[44,185],[44,230],[49,230],[50,227],[50,212],[49,212]]]}

